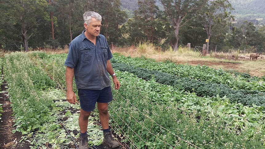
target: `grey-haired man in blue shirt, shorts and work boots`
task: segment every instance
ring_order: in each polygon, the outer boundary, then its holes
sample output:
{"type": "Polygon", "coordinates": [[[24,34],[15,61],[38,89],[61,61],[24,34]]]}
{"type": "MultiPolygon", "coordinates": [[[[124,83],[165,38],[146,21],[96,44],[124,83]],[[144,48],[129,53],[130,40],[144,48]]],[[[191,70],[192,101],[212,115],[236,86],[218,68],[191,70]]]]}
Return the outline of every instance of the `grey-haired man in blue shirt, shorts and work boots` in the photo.
{"type": "Polygon", "coordinates": [[[115,89],[120,88],[120,82],[109,61],[112,54],[107,40],[100,34],[101,15],[89,11],[85,12],[83,17],[85,30],[70,43],[64,64],[66,66],[66,100],[71,104],[77,103],[73,92],[74,76],[81,107],[78,118],[79,149],[88,149],[88,118],[96,102],[103,128],[103,143],[115,148],[120,143],[113,139],[109,130],[108,103],[113,100],[109,74],[112,76],[115,89]]]}

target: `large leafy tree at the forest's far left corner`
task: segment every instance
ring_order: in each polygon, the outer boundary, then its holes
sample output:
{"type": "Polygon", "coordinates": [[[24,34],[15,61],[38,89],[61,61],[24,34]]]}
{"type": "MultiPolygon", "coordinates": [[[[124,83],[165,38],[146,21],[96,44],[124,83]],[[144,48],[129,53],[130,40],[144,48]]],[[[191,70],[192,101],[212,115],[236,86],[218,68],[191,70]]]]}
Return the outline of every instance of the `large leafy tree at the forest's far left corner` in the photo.
{"type": "Polygon", "coordinates": [[[29,39],[38,34],[41,22],[49,16],[46,9],[47,2],[45,0],[2,0],[1,18],[9,19],[12,22],[4,29],[12,30],[13,37],[15,37],[9,39],[8,44],[12,42],[19,49],[28,51],[29,39]],[[20,44],[23,44],[23,47],[20,44]]]}

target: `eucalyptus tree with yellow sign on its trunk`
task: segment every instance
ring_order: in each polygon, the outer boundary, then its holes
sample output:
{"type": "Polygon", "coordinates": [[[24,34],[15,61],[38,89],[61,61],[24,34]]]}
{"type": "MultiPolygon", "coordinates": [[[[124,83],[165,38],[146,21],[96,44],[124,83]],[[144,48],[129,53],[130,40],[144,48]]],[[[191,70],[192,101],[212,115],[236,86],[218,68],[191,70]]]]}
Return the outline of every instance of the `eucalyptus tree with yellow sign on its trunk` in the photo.
{"type": "Polygon", "coordinates": [[[211,36],[218,36],[223,29],[225,31],[229,29],[230,22],[234,20],[234,16],[231,15],[232,10],[228,0],[210,0],[196,15],[197,20],[204,26],[207,33],[207,53],[211,36]]]}

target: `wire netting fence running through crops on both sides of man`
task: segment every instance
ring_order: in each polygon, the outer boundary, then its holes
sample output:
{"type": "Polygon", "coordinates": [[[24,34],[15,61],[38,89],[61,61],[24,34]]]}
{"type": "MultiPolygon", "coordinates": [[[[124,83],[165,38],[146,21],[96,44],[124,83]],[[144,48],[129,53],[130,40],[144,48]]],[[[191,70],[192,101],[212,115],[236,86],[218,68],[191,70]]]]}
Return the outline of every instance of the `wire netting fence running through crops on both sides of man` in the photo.
{"type": "MultiPolygon", "coordinates": [[[[35,58],[39,63],[38,65],[40,65],[42,69],[56,82],[58,87],[65,92],[66,83],[65,66],[63,65],[64,60],[59,58],[53,60],[53,62],[49,62],[47,65],[47,61],[42,61],[38,55],[36,55],[35,58]]],[[[75,85],[73,86],[75,87],[75,85]]],[[[74,88],[74,90],[76,89],[74,88]]],[[[119,136],[121,142],[126,143],[123,145],[123,148],[139,148],[140,146],[141,148],[157,149],[157,145],[160,145],[160,147],[162,145],[162,148],[164,149],[176,149],[183,147],[187,149],[200,148],[156,123],[156,121],[152,120],[148,115],[144,114],[141,110],[131,104],[129,100],[124,98],[117,90],[114,88],[112,90],[114,98],[112,103],[109,105],[110,126],[112,127],[113,132],[119,136]],[[126,104],[121,104],[121,100],[126,104]],[[124,128],[126,128],[126,130],[124,128]],[[152,131],[154,130],[153,128],[155,128],[155,132],[152,131]],[[130,132],[130,136],[126,134],[128,131],[130,132]],[[152,138],[154,141],[148,140],[149,138],[152,138]],[[172,138],[175,138],[174,142],[172,142],[172,138]]],[[[98,114],[97,110],[94,112],[95,114],[98,114]]]]}

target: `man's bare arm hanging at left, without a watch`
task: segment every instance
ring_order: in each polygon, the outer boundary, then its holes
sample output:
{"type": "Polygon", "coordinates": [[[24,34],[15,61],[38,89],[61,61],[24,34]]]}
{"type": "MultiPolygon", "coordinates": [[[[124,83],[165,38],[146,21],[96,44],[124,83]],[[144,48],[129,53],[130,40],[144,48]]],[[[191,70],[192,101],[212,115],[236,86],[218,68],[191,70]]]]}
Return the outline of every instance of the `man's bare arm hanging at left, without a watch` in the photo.
{"type": "Polygon", "coordinates": [[[66,66],[66,71],[65,71],[66,100],[70,104],[77,103],[76,95],[73,92],[73,76],[74,76],[74,68],[66,66]]]}

